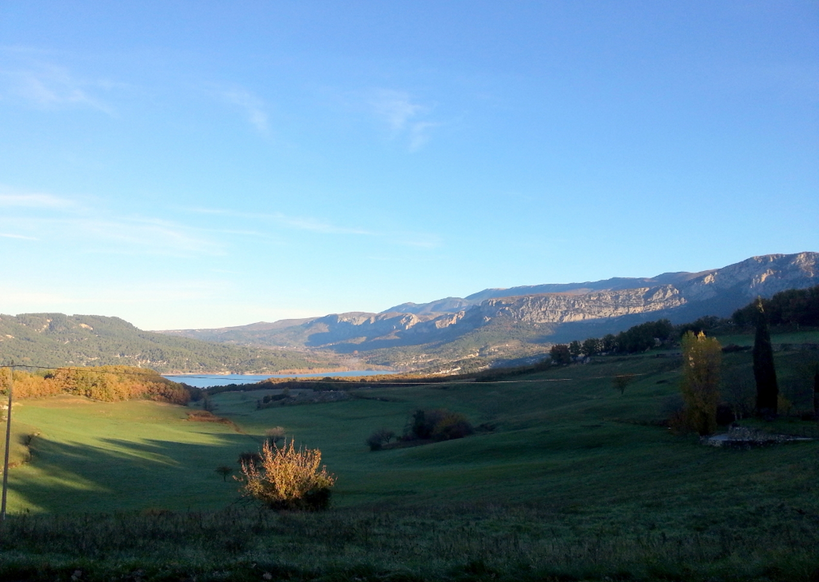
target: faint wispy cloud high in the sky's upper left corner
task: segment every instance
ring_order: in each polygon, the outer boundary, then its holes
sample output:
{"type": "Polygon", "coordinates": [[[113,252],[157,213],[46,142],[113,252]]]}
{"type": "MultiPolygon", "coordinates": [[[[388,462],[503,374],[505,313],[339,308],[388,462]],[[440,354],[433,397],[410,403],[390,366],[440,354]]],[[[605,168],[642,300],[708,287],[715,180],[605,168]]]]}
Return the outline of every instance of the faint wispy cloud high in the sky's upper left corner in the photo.
{"type": "Polygon", "coordinates": [[[7,95],[43,109],[84,106],[114,115],[114,108],[93,94],[94,89],[109,89],[114,83],[78,79],[66,67],[36,63],[20,70],[0,70],[0,78],[7,95]]]}

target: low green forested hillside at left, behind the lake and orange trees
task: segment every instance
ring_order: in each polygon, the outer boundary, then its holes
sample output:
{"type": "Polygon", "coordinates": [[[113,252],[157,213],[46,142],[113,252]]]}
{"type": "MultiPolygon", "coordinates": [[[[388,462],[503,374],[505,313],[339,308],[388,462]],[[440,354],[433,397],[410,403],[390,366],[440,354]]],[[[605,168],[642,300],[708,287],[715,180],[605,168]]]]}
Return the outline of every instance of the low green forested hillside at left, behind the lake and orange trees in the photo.
{"type": "Polygon", "coordinates": [[[137,366],[157,372],[273,373],[342,368],[308,350],[219,345],[143,332],[98,315],[0,315],[0,361],[59,366],[137,366]]]}

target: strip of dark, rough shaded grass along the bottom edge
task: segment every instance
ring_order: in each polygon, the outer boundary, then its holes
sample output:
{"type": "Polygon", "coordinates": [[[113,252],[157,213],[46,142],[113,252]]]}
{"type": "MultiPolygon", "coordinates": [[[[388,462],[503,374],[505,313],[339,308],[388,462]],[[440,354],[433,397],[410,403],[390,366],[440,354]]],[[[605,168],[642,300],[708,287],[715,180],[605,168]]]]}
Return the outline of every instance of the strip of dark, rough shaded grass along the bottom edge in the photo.
{"type": "Polygon", "coordinates": [[[0,577],[815,580],[817,516],[789,519],[783,529],[782,514],[793,509],[759,506],[755,529],[723,524],[691,534],[545,505],[23,515],[0,528],[0,577]]]}

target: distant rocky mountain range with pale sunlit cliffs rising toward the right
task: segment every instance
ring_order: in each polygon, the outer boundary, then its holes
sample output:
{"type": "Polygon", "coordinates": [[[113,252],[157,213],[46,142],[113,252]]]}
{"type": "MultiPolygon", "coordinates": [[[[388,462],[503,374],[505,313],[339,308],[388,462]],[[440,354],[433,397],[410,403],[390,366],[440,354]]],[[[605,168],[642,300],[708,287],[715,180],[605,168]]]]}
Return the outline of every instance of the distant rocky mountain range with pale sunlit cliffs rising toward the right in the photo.
{"type": "Polygon", "coordinates": [[[234,345],[307,347],[406,368],[469,368],[668,318],[729,316],[756,296],[819,284],[814,252],[762,255],[700,273],[485,289],[467,297],[217,329],[161,333],[234,345]],[[464,364],[464,365],[462,365],[464,364]]]}

